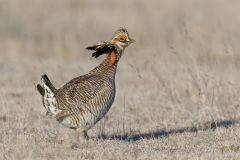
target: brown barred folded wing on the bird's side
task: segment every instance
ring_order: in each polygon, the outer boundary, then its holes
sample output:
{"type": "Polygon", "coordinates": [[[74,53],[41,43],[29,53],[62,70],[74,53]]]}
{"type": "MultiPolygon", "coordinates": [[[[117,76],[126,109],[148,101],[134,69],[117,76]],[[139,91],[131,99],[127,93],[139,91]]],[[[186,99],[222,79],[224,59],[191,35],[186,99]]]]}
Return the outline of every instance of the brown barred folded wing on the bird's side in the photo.
{"type": "Polygon", "coordinates": [[[94,75],[86,75],[84,78],[75,78],[56,94],[59,107],[67,108],[72,112],[88,109],[89,102],[97,95],[109,95],[108,82],[94,75]]]}

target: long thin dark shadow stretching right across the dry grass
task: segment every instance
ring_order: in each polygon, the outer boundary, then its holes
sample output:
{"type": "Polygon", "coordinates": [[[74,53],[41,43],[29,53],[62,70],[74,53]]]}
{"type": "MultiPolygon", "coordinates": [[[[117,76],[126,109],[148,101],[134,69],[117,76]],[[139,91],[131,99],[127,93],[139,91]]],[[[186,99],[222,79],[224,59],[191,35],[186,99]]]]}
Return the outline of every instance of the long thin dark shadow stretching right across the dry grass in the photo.
{"type": "Polygon", "coordinates": [[[198,131],[214,131],[217,128],[228,128],[232,125],[240,124],[240,120],[220,120],[214,122],[208,122],[191,127],[175,128],[170,130],[155,130],[148,133],[140,134],[123,134],[123,135],[99,135],[99,139],[110,139],[110,140],[123,140],[123,141],[139,141],[142,139],[158,139],[168,137],[170,135],[181,134],[181,133],[197,133],[198,131]]]}

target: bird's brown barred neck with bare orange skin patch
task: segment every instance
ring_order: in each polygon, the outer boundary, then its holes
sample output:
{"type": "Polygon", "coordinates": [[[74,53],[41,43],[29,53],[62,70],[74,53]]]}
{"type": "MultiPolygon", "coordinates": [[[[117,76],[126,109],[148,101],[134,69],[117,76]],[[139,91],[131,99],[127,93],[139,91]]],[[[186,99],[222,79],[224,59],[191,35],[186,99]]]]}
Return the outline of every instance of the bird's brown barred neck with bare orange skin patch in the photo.
{"type": "Polygon", "coordinates": [[[107,55],[106,59],[104,59],[100,65],[90,71],[90,74],[104,74],[107,76],[115,76],[118,61],[121,58],[120,55],[121,54],[112,51],[107,55]]]}

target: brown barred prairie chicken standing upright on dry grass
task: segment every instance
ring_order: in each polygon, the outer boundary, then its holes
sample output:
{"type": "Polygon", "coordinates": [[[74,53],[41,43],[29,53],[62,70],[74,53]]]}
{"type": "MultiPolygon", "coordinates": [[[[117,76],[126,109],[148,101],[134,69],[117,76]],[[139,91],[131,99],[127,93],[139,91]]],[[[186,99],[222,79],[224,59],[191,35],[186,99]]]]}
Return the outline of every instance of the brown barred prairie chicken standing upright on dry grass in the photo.
{"type": "Polygon", "coordinates": [[[89,73],[73,78],[56,89],[46,74],[36,88],[42,96],[46,114],[74,129],[76,136],[89,139],[87,134],[111,108],[116,94],[115,75],[126,47],[135,42],[126,28],[119,28],[110,41],[100,41],[87,47],[92,57],[106,55],[89,73]]]}

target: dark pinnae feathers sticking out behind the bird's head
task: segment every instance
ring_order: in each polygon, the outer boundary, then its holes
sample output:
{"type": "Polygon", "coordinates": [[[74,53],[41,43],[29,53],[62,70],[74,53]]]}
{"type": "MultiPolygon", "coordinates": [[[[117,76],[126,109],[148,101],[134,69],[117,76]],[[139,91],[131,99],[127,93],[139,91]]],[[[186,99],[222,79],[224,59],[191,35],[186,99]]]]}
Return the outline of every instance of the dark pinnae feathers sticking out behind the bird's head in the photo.
{"type": "Polygon", "coordinates": [[[86,48],[87,50],[94,50],[95,52],[92,53],[92,57],[97,58],[102,54],[110,53],[113,50],[116,50],[116,47],[108,42],[98,42],[95,45],[89,46],[86,48]]]}

